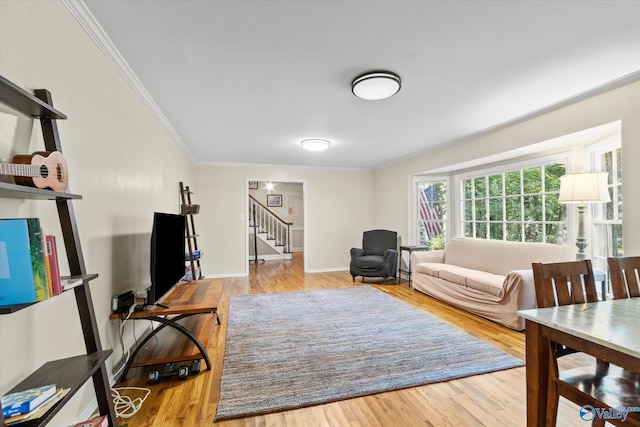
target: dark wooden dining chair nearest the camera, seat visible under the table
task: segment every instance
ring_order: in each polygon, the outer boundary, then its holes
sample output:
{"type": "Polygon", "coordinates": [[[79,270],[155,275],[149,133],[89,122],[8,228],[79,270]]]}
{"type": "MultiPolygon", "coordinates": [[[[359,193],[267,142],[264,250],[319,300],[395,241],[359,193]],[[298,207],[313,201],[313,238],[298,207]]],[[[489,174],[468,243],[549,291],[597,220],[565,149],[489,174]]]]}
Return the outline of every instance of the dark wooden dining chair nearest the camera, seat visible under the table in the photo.
{"type": "MultiPolygon", "coordinates": [[[[598,301],[590,260],[533,263],[532,268],[538,308],[598,301]]],[[[575,352],[551,343],[546,425],[556,425],[560,396],[581,408],[589,405],[612,414],[618,408],[639,405],[640,376],[618,366],[598,360],[589,366],[559,371],[558,357],[575,352]]],[[[616,426],[640,426],[640,412],[629,412],[624,422],[595,415],[592,425],[604,426],[605,421],[616,426]]]]}

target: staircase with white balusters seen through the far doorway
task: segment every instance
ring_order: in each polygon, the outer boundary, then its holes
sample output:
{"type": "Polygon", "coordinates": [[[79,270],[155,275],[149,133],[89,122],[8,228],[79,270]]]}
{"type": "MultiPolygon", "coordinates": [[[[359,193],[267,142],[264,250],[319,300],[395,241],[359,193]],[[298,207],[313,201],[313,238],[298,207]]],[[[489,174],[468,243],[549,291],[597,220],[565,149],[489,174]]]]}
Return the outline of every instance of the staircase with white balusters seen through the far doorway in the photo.
{"type": "MultiPolygon", "coordinates": [[[[274,251],[269,259],[291,259],[291,223],[284,221],[269,208],[249,196],[249,237],[253,239],[254,229],[258,240],[264,242],[274,251]],[[254,228],[255,218],[255,228],[254,228]]],[[[258,254],[266,258],[264,254],[258,254]]]]}

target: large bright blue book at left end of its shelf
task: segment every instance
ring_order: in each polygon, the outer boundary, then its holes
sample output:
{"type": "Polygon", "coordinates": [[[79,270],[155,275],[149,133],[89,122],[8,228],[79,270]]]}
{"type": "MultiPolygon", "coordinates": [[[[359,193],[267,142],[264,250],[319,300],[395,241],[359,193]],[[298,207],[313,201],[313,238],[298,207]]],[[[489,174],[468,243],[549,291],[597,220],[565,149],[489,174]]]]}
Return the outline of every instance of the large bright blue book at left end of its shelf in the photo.
{"type": "MultiPolygon", "coordinates": [[[[31,250],[33,245],[29,231],[34,228],[40,229],[39,221],[34,218],[0,219],[0,305],[36,302],[36,289],[38,286],[46,287],[44,265],[40,265],[41,268],[35,265],[37,254],[32,254],[31,250]],[[34,227],[36,222],[38,224],[34,227]]],[[[37,242],[34,245],[37,246],[37,242]]]]}

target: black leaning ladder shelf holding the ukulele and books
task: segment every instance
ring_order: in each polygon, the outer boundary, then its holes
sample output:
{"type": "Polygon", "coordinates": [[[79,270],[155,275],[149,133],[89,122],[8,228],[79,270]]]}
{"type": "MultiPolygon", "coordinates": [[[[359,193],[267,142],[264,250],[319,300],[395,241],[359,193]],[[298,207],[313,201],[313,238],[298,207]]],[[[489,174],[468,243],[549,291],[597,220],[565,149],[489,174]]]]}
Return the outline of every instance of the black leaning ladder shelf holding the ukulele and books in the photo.
{"type": "MultiPolygon", "coordinates": [[[[49,91],[46,89],[37,89],[34,93],[35,95],[32,95],[0,76],[0,103],[5,104],[18,113],[40,119],[45,149],[47,151],[62,152],[56,120],[66,119],[67,116],[53,108],[49,91]]],[[[25,427],[46,425],[83,384],[92,382],[100,414],[108,415],[109,425],[116,426],[117,418],[113,407],[109,377],[105,364],[112,350],[102,349],[93,309],[91,289],[88,285],[88,282],[98,277],[98,275],[88,274],[86,272],[84,256],[80,245],[80,232],[76,224],[72,203],[74,199],[81,199],[82,197],[77,194],[61,193],[8,182],[0,182],[0,197],[56,201],[58,218],[60,220],[60,227],[67,253],[67,261],[69,262],[69,271],[73,278],[81,281],[78,286],[72,289],[74,290],[76,298],[84,344],[87,351],[87,354],[81,356],[47,362],[9,391],[9,393],[23,391],[47,384],[56,384],[57,387],[71,389],[60,402],[57,402],[43,416],[36,420],[22,422],[19,425],[25,427]]],[[[35,304],[37,303],[2,306],[0,307],[0,314],[15,313],[35,304]]],[[[12,348],[18,345],[19,343],[13,343],[12,348]]],[[[5,346],[4,351],[10,351],[10,349],[5,346]]],[[[5,425],[5,420],[0,411],[0,427],[4,427],[5,425]]]]}

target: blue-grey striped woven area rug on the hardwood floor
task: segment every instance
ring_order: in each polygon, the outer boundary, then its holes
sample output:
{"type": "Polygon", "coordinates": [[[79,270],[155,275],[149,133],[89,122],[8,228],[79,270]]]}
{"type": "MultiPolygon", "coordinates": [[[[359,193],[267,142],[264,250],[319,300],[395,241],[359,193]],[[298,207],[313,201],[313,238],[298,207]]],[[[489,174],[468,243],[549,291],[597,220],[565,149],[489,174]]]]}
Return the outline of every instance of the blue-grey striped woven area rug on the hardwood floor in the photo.
{"type": "Polygon", "coordinates": [[[368,285],[236,295],[216,420],[523,365],[368,285]]]}

